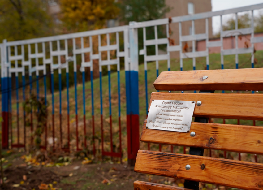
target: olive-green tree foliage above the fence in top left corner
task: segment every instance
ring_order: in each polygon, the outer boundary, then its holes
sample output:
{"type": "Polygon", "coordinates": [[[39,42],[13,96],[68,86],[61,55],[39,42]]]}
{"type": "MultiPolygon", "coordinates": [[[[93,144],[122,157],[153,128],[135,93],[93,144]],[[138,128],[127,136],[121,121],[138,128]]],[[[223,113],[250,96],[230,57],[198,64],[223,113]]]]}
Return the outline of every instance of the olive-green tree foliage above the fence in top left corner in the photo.
{"type": "Polygon", "coordinates": [[[42,1],[0,1],[0,41],[52,34],[52,19],[42,1]]]}

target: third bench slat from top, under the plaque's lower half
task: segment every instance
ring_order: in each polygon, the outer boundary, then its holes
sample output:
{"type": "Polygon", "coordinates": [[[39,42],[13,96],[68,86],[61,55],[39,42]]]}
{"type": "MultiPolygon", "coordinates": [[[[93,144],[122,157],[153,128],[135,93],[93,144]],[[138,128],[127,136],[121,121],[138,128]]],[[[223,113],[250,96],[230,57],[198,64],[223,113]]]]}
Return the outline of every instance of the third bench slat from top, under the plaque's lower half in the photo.
{"type": "Polygon", "coordinates": [[[146,129],[146,122],[142,128],[142,142],[263,154],[263,127],[192,123],[190,132],[183,133],[146,129]],[[190,136],[192,131],[196,133],[194,137],[190,136]]]}

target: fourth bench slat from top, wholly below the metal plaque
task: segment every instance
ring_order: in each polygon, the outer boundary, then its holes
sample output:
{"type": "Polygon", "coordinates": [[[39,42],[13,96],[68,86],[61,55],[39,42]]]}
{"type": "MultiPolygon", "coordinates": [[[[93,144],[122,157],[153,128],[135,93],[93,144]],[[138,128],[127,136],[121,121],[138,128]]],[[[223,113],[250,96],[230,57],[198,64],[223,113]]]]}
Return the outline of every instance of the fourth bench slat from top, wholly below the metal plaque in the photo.
{"type": "Polygon", "coordinates": [[[247,190],[263,188],[263,164],[252,162],[139,150],[134,171],[247,190]]]}

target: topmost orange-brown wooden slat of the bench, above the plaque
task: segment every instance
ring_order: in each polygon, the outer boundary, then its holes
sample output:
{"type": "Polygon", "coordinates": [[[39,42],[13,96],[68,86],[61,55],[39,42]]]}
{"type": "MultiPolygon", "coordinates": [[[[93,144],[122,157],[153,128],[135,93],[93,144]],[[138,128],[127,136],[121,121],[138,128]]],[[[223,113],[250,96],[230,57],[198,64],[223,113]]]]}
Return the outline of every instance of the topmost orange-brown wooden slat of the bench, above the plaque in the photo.
{"type": "Polygon", "coordinates": [[[162,72],[156,90],[263,90],[263,68],[162,72]],[[208,76],[207,79],[202,79],[208,76]]]}

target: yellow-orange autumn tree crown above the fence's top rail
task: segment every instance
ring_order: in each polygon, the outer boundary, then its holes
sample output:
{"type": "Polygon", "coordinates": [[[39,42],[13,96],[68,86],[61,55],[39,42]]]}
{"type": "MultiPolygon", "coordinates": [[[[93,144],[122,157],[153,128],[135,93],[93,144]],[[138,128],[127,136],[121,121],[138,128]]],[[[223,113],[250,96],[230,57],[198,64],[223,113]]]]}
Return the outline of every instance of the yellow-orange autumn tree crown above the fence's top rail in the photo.
{"type": "Polygon", "coordinates": [[[82,32],[105,28],[106,21],[117,18],[119,8],[113,0],[60,1],[61,21],[68,31],[82,32]]]}

